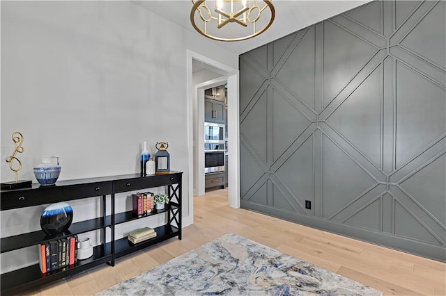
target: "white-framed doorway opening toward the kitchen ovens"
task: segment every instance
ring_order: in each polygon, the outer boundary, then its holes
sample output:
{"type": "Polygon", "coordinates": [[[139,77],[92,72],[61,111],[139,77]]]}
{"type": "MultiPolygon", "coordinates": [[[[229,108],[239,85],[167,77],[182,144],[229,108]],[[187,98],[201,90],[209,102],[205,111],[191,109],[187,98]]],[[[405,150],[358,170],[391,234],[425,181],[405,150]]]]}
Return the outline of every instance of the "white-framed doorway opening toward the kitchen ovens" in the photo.
{"type": "MultiPolygon", "coordinates": [[[[238,70],[223,65],[215,60],[201,56],[193,51],[187,51],[187,94],[189,100],[188,131],[189,131],[189,215],[193,223],[194,188],[197,195],[204,194],[204,90],[227,83],[228,92],[228,153],[231,155],[228,165],[228,204],[240,208],[240,178],[238,159],[239,124],[238,124],[238,70]],[[221,74],[219,78],[194,85],[193,65],[221,74]],[[195,111],[195,112],[194,112],[195,111]],[[197,136],[195,136],[197,135],[197,136]]],[[[189,221],[187,221],[189,222],[189,221]]],[[[189,224],[189,223],[185,223],[189,224]]]]}

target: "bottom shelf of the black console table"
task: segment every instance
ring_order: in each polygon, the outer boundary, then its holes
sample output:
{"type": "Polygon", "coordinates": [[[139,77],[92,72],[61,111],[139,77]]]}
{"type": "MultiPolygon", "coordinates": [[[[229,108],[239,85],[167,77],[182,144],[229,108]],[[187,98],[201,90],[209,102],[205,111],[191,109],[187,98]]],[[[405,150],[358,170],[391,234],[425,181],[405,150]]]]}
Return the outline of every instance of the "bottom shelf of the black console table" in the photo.
{"type": "Polygon", "coordinates": [[[66,268],[61,268],[60,270],[54,270],[43,274],[40,271],[39,265],[35,264],[20,270],[1,274],[1,294],[16,294],[31,288],[36,288],[36,286],[41,286],[56,281],[57,279],[63,279],[64,277],[77,274],[82,270],[92,268],[102,263],[111,263],[114,259],[131,254],[139,249],[144,249],[156,245],[158,242],[180,236],[180,231],[174,226],[162,225],[154,228],[154,230],[157,233],[155,238],[144,240],[144,242],[139,242],[135,245],[132,244],[132,242],[129,242],[126,237],[115,240],[114,255],[112,255],[111,251],[112,243],[107,242],[105,248],[103,245],[93,247],[93,256],[90,258],[78,260],[75,265],[70,265],[66,268]]]}

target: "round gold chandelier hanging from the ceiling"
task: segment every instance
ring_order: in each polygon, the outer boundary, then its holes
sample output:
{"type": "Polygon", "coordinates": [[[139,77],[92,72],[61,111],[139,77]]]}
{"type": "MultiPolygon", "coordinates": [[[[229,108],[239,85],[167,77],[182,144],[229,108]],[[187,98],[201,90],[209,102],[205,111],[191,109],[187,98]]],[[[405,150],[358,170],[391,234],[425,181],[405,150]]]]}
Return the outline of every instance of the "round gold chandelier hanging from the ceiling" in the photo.
{"type": "Polygon", "coordinates": [[[266,31],[275,16],[271,0],[192,0],[192,3],[192,26],[213,40],[253,38],[266,31]]]}

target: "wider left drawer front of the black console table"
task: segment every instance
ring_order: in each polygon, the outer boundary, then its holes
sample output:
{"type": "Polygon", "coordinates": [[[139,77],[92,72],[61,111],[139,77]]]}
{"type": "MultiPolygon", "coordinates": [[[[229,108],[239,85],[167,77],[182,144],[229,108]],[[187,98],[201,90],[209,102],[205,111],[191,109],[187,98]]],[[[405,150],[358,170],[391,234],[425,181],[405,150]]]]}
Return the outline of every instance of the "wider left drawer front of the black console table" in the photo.
{"type": "Polygon", "coordinates": [[[24,190],[1,192],[1,210],[65,202],[72,199],[109,195],[113,192],[112,182],[90,183],[75,186],[40,186],[24,190]]]}

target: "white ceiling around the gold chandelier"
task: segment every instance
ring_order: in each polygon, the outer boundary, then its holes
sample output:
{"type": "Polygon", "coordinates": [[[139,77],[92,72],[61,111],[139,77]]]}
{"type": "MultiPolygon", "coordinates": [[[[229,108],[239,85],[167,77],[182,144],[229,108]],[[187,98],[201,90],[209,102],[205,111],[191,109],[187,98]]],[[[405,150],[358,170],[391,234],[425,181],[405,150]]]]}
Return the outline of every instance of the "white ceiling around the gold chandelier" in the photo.
{"type": "MultiPolygon", "coordinates": [[[[216,42],[236,54],[243,54],[251,49],[255,49],[263,44],[298,31],[301,28],[361,6],[369,1],[371,0],[274,0],[272,3],[276,11],[275,20],[266,32],[250,40],[238,42],[212,40],[212,42],[216,42]]],[[[190,0],[144,0],[132,2],[205,38],[195,31],[190,24],[190,10],[192,9],[192,1],[190,0]]]]}

